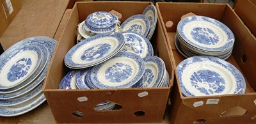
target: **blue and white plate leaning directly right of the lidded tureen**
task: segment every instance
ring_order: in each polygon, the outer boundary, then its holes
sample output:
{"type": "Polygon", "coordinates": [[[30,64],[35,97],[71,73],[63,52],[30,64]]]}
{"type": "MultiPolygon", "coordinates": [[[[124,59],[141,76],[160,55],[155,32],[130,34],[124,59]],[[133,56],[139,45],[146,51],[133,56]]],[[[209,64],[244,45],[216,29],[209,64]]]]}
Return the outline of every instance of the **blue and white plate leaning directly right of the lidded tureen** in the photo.
{"type": "Polygon", "coordinates": [[[122,23],[121,27],[123,31],[140,33],[146,37],[150,28],[150,22],[145,15],[132,15],[122,23]]]}

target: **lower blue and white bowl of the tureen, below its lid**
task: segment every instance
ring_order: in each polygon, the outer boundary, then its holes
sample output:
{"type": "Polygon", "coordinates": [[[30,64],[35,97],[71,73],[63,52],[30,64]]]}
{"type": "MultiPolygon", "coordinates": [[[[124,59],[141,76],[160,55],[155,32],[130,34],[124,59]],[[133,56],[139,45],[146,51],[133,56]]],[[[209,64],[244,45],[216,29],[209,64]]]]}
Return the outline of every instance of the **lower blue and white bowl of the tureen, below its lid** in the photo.
{"type": "Polygon", "coordinates": [[[113,24],[113,26],[106,27],[106,28],[95,28],[95,27],[89,26],[86,22],[84,22],[84,24],[82,25],[82,28],[91,34],[96,35],[96,34],[114,32],[117,27],[117,23],[118,22],[116,22],[116,24],[113,24]]]}

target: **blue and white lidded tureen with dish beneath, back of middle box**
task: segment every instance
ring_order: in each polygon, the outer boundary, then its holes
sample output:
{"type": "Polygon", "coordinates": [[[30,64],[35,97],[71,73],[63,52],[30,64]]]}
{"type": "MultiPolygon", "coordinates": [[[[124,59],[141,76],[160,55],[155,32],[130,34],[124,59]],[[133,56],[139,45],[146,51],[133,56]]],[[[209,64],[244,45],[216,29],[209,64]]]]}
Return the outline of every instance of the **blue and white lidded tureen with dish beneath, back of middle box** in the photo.
{"type": "Polygon", "coordinates": [[[79,24],[78,31],[84,38],[89,38],[101,33],[114,32],[119,23],[118,18],[112,13],[94,12],[79,24]]]}

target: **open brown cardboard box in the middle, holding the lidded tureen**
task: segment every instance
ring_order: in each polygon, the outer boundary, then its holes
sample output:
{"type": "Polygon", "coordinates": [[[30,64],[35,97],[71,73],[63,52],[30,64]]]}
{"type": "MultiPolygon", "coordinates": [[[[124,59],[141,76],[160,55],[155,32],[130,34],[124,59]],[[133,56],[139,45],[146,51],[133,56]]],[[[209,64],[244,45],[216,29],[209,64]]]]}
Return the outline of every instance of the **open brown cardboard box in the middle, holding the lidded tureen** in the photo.
{"type": "MultiPolygon", "coordinates": [[[[50,69],[44,82],[44,94],[51,107],[52,114],[58,123],[135,123],[163,121],[166,103],[173,84],[174,71],[171,65],[170,50],[167,47],[163,28],[157,24],[153,42],[155,54],[163,59],[170,74],[168,88],[127,88],[127,89],[58,89],[61,79],[69,68],[63,59],[65,54],[76,44],[76,27],[86,17],[97,11],[122,13],[121,22],[132,15],[142,13],[150,2],[88,2],[76,3],[65,30],[58,41],[50,69]],[[138,93],[148,92],[145,97],[138,93]],[[79,102],[77,98],[86,97],[87,101],[79,102]],[[122,106],[114,111],[95,111],[93,107],[102,102],[115,102],[122,106]],[[84,116],[77,117],[76,113],[84,116]],[[143,114],[143,112],[145,112],[143,114]],[[75,115],[74,115],[75,114],[75,115]],[[80,113],[81,114],[81,113],[80,113]],[[140,115],[137,115],[140,114],[140,115]],[[137,116],[136,116],[137,115],[137,116]]],[[[79,115],[78,115],[79,116],[79,115]]]]}

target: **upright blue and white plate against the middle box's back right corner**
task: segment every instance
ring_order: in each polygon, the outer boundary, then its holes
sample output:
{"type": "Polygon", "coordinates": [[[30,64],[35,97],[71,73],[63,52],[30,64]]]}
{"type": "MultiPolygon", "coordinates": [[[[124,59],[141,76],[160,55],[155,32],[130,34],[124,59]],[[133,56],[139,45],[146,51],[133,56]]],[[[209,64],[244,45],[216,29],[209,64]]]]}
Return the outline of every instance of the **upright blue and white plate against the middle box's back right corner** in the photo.
{"type": "Polygon", "coordinates": [[[156,29],[156,22],[157,22],[156,6],[150,4],[149,6],[147,6],[147,8],[145,8],[142,14],[145,15],[150,22],[150,28],[147,35],[148,40],[150,40],[156,29]]]}

